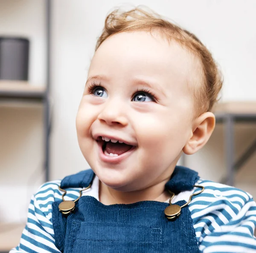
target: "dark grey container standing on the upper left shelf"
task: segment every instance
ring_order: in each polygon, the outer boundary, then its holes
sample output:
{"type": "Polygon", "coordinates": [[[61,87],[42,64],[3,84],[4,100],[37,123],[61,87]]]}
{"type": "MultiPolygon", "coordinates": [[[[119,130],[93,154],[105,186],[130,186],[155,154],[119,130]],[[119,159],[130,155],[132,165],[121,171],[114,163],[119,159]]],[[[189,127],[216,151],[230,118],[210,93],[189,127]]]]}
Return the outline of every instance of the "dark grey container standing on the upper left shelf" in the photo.
{"type": "Polygon", "coordinates": [[[29,40],[0,37],[0,79],[28,80],[29,40]]]}

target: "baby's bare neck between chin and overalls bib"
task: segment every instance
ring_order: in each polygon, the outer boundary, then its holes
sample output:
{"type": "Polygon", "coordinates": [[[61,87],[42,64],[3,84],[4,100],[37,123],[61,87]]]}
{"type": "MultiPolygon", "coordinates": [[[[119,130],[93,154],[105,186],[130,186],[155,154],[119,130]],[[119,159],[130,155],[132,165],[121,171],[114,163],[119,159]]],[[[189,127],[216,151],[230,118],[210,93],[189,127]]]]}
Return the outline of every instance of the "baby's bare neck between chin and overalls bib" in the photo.
{"type": "Polygon", "coordinates": [[[115,190],[99,181],[99,201],[104,205],[131,204],[145,200],[166,202],[170,198],[165,190],[167,181],[168,179],[148,188],[129,192],[115,190]]]}

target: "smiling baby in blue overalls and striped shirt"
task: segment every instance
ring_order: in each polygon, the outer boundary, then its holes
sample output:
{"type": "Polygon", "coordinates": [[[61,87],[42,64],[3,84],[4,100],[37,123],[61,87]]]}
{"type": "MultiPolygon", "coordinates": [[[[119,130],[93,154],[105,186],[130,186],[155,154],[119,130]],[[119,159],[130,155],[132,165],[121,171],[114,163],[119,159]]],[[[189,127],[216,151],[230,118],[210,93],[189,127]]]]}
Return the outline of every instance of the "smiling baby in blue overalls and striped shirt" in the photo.
{"type": "Polygon", "coordinates": [[[211,136],[221,85],[194,34],[109,14],[76,117],[91,169],[39,188],[10,252],[256,252],[252,196],[176,165],[211,136]]]}

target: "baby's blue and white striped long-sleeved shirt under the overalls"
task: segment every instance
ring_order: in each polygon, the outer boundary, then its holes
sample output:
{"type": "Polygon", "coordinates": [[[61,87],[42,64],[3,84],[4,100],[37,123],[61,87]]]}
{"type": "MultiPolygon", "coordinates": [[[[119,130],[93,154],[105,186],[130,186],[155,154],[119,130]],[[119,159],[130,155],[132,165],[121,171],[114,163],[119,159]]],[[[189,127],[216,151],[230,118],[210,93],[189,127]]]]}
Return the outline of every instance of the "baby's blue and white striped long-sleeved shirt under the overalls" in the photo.
{"type": "MultiPolygon", "coordinates": [[[[20,244],[9,253],[57,253],[52,226],[52,202],[61,200],[63,192],[58,189],[61,180],[43,184],[29,204],[28,219],[20,244]]],[[[237,188],[199,179],[196,185],[205,190],[193,196],[189,210],[202,253],[256,253],[256,203],[252,196],[237,188]]],[[[81,188],[67,189],[65,200],[74,200],[81,188]]],[[[185,191],[172,200],[188,201],[194,188],[185,191]]],[[[91,188],[82,196],[92,196],[99,200],[99,178],[95,176],[91,188]]]]}

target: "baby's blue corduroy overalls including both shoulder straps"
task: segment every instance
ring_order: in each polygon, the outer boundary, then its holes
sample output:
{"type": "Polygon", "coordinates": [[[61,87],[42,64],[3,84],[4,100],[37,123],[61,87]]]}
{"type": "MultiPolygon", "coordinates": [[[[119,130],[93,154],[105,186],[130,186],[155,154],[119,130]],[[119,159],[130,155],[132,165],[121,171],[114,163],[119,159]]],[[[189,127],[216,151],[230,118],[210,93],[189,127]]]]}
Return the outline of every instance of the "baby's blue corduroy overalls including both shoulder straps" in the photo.
{"type": "MultiPolygon", "coordinates": [[[[81,171],[61,181],[61,188],[84,188],[93,181],[92,170],[81,171]]],[[[175,194],[192,190],[198,173],[176,166],[166,188],[175,194]]],[[[64,253],[199,253],[188,206],[169,221],[164,210],[169,203],[141,201],[103,205],[92,196],[82,196],[75,210],[64,216],[52,206],[55,244],[64,253]]],[[[184,200],[175,204],[183,205],[184,200]]]]}

